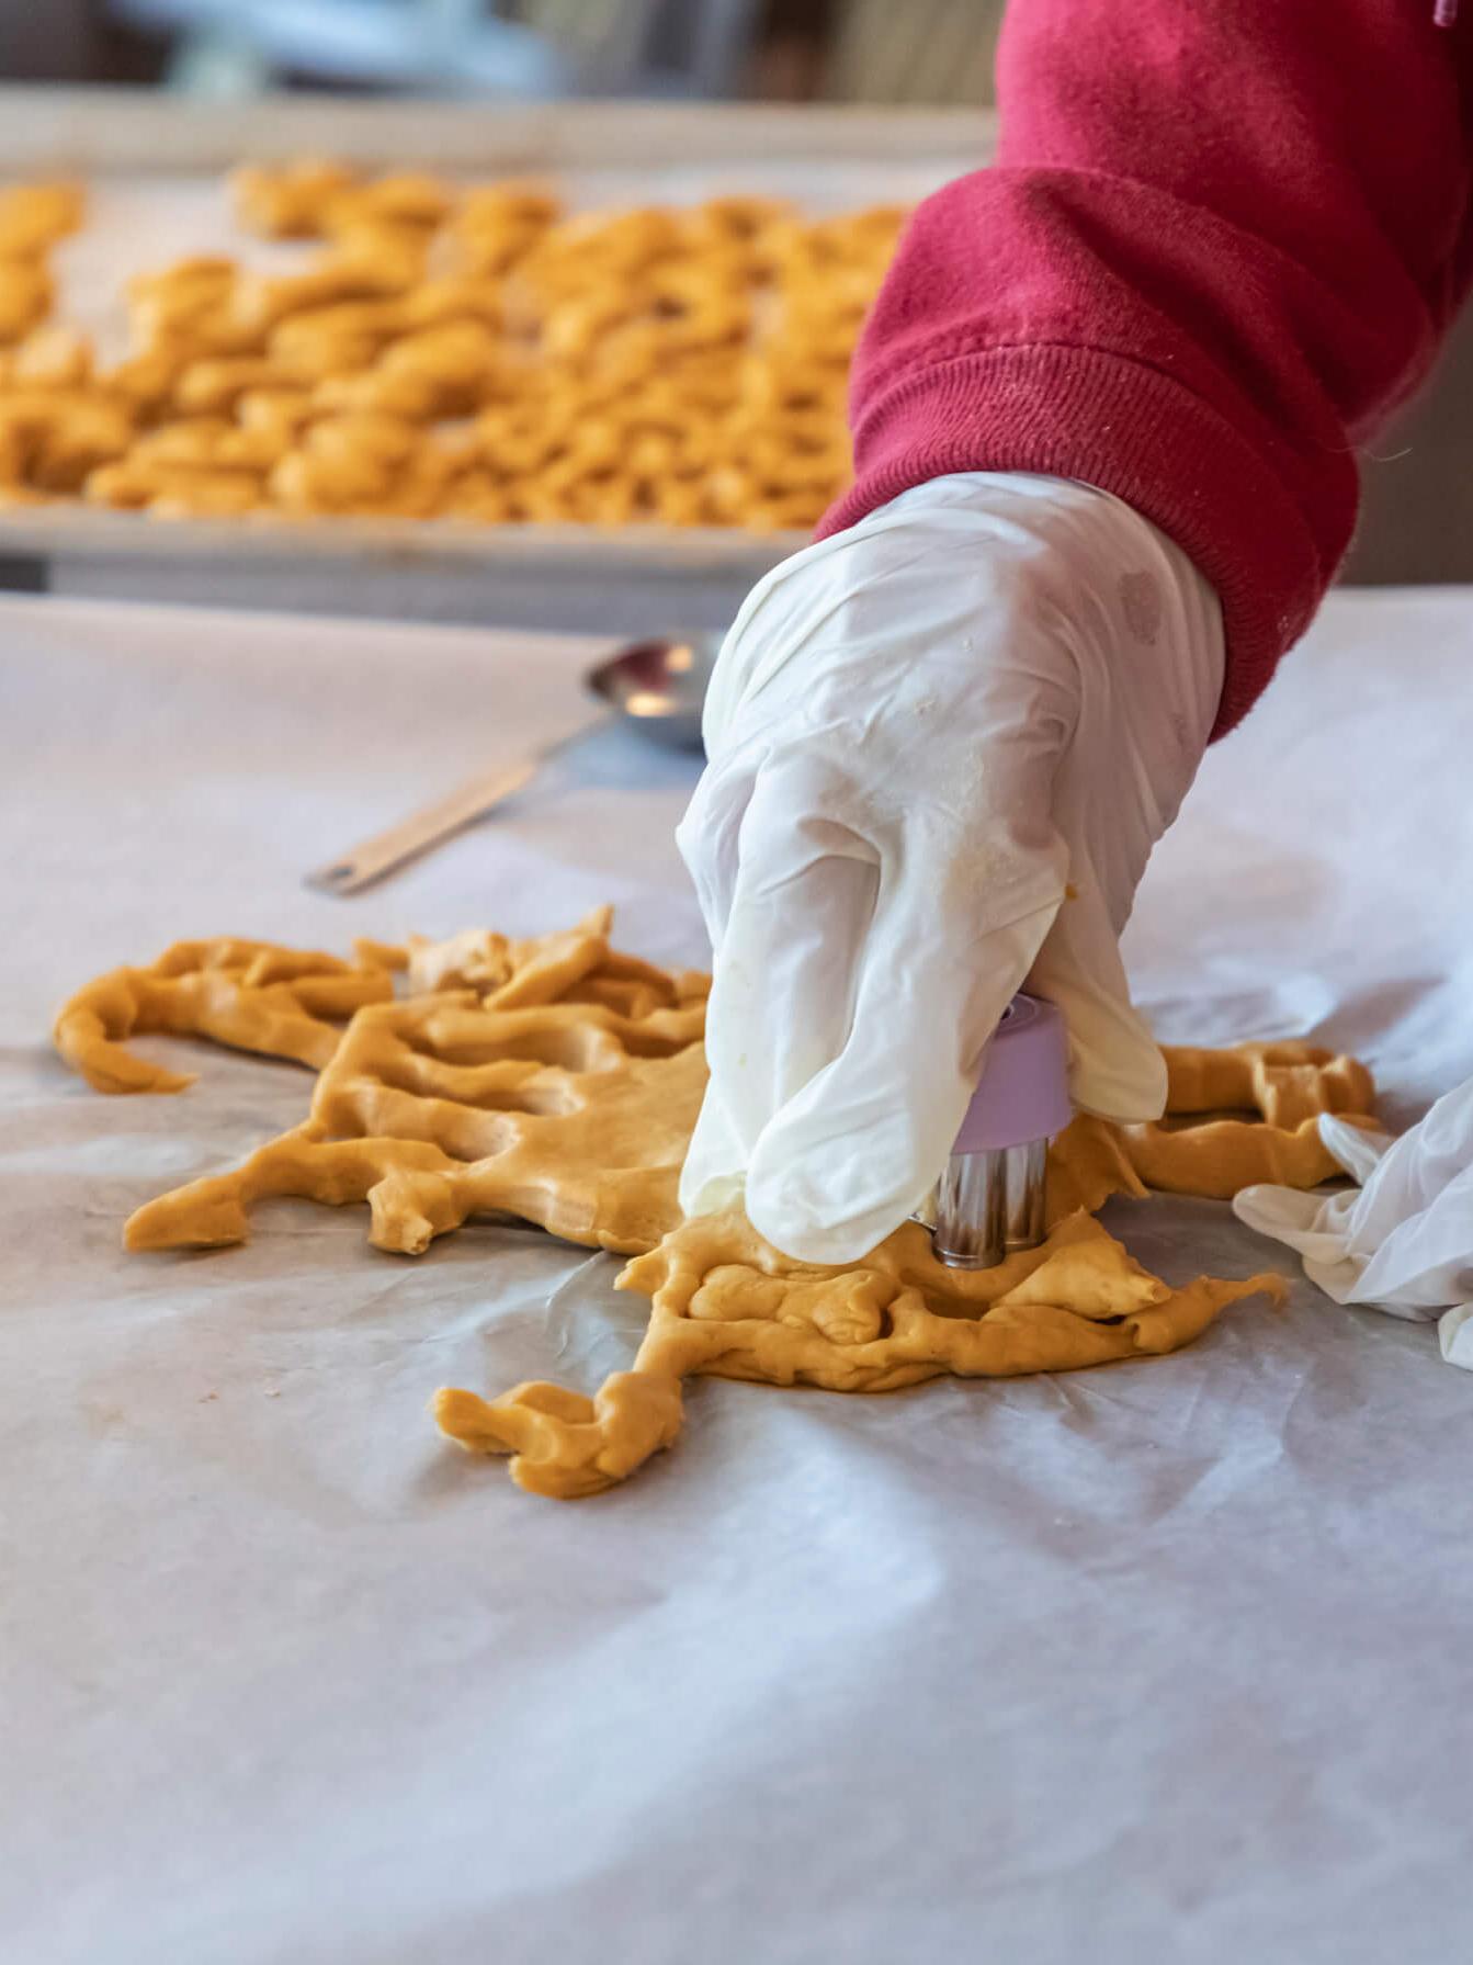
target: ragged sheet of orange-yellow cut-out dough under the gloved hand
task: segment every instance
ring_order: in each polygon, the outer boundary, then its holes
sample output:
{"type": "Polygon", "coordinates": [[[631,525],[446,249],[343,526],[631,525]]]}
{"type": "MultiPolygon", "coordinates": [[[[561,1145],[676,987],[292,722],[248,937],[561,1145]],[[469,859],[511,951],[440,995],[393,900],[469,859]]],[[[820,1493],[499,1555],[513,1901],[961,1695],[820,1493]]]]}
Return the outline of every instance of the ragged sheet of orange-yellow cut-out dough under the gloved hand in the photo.
{"type": "Polygon", "coordinates": [[[1253,1181],[1336,1175],[1316,1116],[1365,1120],[1363,1065],[1308,1043],[1169,1049],[1169,1114],[1080,1116],[1049,1153],[1047,1242],[996,1269],[947,1269],[907,1222],[862,1262],[797,1263],[740,1214],[682,1222],[678,1177],[705,1093],[709,977],[609,945],[611,910],[513,941],[357,941],[354,963],[236,939],[179,943],[118,969],[57,1018],[57,1047],[100,1091],[187,1079],[122,1039],[169,1030],[318,1069],[306,1120],[244,1165],[141,1207],[134,1250],[220,1246],[251,1203],[367,1203],[371,1240],[420,1254],[471,1214],[515,1214],[634,1260],[619,1287],[650,1299],[628,1372],[593,1395],[548,1383],[487,1401],[436,1397],[462,1446],[511,1454],[536,1493],[627,1480],[682,1427],[682,1381],[738,1377],[894,1391],[927,1377],[1006,1377],[1159,1356],[1229,1303],[1281,1281],[1198,1277],[1171,1289],[1092,1218],[1112,1195],[1228,1197],[1253,1181]],[[395,982],[409,994],[397,996],[395,982]],[[346,1022],[346,1028],[342,1020],[346,1022]]]}

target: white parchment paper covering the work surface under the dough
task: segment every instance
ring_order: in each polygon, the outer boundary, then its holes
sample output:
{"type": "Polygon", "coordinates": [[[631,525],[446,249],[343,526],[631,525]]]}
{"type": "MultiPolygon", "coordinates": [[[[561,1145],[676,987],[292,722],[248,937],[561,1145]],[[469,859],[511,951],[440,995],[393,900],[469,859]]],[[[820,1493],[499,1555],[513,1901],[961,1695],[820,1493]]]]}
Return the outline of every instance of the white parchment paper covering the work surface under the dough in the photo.
{"type": "MultiPolygon", "coordinates": [[[[0,1957],[1469,1957],[1473,1377],[1434,1330],[1298,1283],[1066,1377],[697,1381],[564,1505],[424,1401],[623,1364],[611,1260],[409,1262],[308,1203],[120,1252],[308,1079],[147,1039],[200,1083],[96,1096],[45,1043],[96,971],[605,898],[703,957],[693,772],[619,735],[377,894],[299,886],[566,727],[591,646],[0,603],[0,1957]]],[[[1473,597],[1336,597],[1147,878],[1163,1036],[1326,1036],[1400,1118],[1473,1071],[1471,758],[1473,597]]],[[[1112,1222],[1173,1275],[1288,1267],[1222,1207],[1112,1222]]]]}

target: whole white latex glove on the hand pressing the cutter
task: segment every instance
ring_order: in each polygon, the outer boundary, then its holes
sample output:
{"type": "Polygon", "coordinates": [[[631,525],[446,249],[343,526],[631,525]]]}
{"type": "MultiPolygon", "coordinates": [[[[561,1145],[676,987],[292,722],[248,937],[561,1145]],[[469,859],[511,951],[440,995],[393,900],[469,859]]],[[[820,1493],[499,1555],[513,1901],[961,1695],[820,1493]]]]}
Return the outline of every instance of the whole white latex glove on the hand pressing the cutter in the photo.
{"type": "Polygon", "coordinates": [[[752,590],[678,833],[715,951],[687,1214],[744,1185],[790,1256],[870,1250],[937,1181],[1025,981],[1082,1110],[1161,1112],[1118,943],[1222,660],[1192,562],[1059,477],[939,477],[752,590]]]}

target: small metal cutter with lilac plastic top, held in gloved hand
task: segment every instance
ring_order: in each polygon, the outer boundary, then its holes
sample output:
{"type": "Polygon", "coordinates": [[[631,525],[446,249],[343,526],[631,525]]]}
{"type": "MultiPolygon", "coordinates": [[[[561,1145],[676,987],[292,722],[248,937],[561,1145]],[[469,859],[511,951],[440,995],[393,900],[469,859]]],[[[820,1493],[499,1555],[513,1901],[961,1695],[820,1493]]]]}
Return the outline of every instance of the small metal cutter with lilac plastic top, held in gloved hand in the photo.
{"type": "Polygon", "coordinates": [[[931,1246],[947,1267],[992,1269],[1008,1250],[1037,1248],[1049,1140],[1070,1118],[1064,1018],[1013,996],[937,1187],[931,1246]]]}

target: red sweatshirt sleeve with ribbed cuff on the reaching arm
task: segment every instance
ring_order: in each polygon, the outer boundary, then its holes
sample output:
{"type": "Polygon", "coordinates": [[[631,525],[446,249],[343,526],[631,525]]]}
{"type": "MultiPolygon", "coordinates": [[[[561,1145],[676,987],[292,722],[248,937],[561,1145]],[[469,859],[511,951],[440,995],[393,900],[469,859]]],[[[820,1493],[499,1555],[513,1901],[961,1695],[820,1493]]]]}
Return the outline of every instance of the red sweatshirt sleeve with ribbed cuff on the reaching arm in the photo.
{"type": "Polygon", "coordinates": [[[821,533],[945,472],[1114,491],[1222,597],[1231,729],[1461,297],[1471,41],[1432,0],[1013,0],[998,163],[901,236],[821,533]]]}

